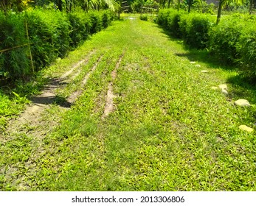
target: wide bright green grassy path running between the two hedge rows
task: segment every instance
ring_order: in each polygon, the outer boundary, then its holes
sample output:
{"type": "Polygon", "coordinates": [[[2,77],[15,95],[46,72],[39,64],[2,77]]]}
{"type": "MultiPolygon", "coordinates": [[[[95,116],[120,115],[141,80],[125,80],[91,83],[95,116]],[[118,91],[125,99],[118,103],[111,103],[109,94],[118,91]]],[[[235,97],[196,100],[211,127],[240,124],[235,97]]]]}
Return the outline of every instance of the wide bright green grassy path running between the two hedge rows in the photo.
{"type": "Polygon", "coordinates": [[[233,104],[255,91],[212,90],[236,73],[200,60],[156,24],[114,22],[45,71],[65,84],[33,127],[3,134],[0,189],[255,191],[255,133],[238,129],[255,107],[233,104]]]}

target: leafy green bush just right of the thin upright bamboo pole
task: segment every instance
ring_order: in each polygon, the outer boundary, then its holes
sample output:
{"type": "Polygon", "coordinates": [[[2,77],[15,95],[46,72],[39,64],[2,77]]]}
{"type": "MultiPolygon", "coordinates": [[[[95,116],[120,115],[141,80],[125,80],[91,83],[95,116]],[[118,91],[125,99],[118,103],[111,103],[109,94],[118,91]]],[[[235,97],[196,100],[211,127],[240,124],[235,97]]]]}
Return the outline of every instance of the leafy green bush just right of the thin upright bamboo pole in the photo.
{"type": "Polygon", "coordinates": [[[25,13],[30,34],[32,57],[36,70],[65,57],[69,51],[69,19],[65,13],[51,10],[31,10],[25,13]]]}

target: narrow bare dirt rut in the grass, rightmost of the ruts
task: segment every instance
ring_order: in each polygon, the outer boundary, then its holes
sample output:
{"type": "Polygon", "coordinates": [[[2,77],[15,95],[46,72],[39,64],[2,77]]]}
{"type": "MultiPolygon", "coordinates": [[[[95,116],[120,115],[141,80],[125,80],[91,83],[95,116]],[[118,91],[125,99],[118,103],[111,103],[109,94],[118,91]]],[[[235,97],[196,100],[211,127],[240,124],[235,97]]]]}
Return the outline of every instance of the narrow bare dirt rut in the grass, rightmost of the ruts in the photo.
{"type": "Polygon", "coordinates": [[[111,71],[111,82],[108,84],[108,92],[105,98],[105,109],[104,109],[103,116],[101,117],[102,119],[105,119],[110,113],[112,113],[115,110],[114,98],[117,96],[114,95],[113,82],[117,78],[117,69],[120,67],[120,64],[122,62],[122,57],[124,56],[124,54],[125,54],[125,51],[122,52],[122,55],[120,56],[114,70],[111,71]]]}

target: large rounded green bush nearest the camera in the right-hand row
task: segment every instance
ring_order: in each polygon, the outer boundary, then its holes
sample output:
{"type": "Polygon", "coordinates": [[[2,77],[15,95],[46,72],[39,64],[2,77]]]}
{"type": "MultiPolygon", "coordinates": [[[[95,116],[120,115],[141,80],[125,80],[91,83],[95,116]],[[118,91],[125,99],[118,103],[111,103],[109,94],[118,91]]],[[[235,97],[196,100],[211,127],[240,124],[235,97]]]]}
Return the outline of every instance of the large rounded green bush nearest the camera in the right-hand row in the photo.
{"type": "Polygon", "coordinates": [[[226,63],[240,65],[246,77],[256,79],[256,17],[230,15],[210,32],[210,52],[226,63]]]}

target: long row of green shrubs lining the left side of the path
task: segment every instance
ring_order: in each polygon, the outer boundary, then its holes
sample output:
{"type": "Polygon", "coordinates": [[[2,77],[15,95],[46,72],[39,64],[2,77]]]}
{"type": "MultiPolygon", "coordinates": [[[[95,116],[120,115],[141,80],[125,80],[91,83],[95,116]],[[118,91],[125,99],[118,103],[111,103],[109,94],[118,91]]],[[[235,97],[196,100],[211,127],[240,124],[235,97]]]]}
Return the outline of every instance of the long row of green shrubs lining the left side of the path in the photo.
{"type": "Polygon", "coordinates": [[[37,9],[0,13],[0,79],[24,79],[32,74],[28,43],[34,71],[39,71],[57,57],[65,57],[89,35],[106,28],[113,18],[114,14],[108,10],[66,14],[37,9]]]}

